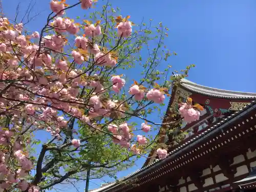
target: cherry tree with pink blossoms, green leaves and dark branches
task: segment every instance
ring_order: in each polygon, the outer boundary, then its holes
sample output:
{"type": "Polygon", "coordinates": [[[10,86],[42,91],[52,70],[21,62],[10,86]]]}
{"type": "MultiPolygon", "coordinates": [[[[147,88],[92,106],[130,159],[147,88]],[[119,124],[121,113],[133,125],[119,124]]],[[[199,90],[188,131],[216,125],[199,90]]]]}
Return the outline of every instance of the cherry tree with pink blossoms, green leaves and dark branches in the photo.
{"type": "MultiPolygon", "coordinates": [[[[193,66],[171,80],[170,66],[157,70],[175,54],[163,45],[168,29],[161,23],[155,34],[130,16],[115,15],[109,4],[76,22],[66,15],[73,7],[88,10],[93,4],[52,0],[40,32],[0,18],[1,191],[51,189],[85,179],[89,169],[96,178],[115,177],[156,146],[157,137],[148,133],[163,123],[148,117],[160,111],[169,90],[193,66]],[[137,80],[125,76],[136,69],[142,69],[137,80]],[[47,142],[36,139],[41,132],[49,132],[47,142]],[[34,145],[40,146],[38,154],[34,145]]],[[[200,113],[188,99],[180,115],[191,122],[200,113]]],[[[166,158],[167,148],[157,154],[166,158]]]]}

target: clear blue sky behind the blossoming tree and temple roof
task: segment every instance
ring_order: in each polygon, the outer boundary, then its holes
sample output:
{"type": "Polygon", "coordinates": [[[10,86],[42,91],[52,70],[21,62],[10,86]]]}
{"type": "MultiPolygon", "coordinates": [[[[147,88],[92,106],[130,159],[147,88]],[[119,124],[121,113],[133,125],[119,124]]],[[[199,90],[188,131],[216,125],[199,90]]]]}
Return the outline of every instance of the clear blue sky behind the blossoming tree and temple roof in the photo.
{"type": "MultiPolygon", "coordinates": [[[[3,9],[8,17],[14,17],[19,0],[4,0],[3,9]]],[[[22,10],[29,0],[23,2],[22,10]]],[[[76,2],[67,0],[68,4],[76,2]]],[[[255,0],[110,0],[114,7],[121,8],[122,15],[131,15],[134,23],[154,19],[163,22],[169,31],[166,45],[178,56],[170,58],[174,69],[183,69],[194,63],[196,69],[188,79],[199,84],[219,89],[256,92],[256,1],[255,0]]],[[[35,8],[44,11],[35,22],[28,25],[39,30],[45,24],[49,11],[48,0],[38,0],[35,8]]],[[[101,0],[99,0],[101,4],[101,0]]],[[[83,15],[86,11],[76,9],[71,16],[83,15]]],[[[165,109],[163,109],[165,111],[165,109]]],[[[126,176],[140,168],[137,166],[118,174],[126,176]]],[[[95,180],[100,183],[102,181],[95,180]]],[[[83,191],[84,183],[77,185],[83,191]]],[[[90,188],[97,188],[91,183],[90,188]]],[[[61,188],[61,187],[59,187],[61,188]]],[[[75,190],[73,190],[75,191],[75,190]]]]}

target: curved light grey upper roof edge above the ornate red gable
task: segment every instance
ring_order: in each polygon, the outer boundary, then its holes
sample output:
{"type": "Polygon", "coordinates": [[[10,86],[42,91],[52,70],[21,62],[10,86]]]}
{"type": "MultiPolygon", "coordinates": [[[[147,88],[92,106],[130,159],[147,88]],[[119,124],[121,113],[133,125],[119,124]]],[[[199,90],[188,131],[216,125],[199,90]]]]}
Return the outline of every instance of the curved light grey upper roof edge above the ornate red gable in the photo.
{"type": "Polygon", "coordinates": [[[200,84],[194,83],[187,79],[181,79],[180,86],[195,93],[212,96],[212,97],[218,97],[218,98],[229,98],[229,99],[256,98],[256,93],[246,93],[246,92],[228,91],[228,90],[210,88],[206,86],[201,86],[200,84]]]}

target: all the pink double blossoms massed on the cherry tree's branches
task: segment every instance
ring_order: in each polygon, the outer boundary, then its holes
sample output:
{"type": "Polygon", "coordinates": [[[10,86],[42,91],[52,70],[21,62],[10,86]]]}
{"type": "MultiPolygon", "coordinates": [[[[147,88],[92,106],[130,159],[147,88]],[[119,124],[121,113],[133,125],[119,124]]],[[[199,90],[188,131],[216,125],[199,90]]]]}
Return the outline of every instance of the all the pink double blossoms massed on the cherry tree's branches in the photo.
{"type": "MultiPolygon", "coordinates": [[[[127,122],[115,124],[119,117],[131,116],[127,110],[131,104],[118,96],[126,94],[127,86],[127,93],[134,103],[164,102],[165,92],[161,89],[147,89],[142,83],[125,86],[122,75],[113,75],[120,60],[114,48],[108,50],[98,40],[106,34],[100,22],[75,23],[65,16],[68,5],[64,2],[50,2],[55,15],[49,17],[51,19],[40,34],[28,32],[22,23],[12,25],[7,18],[0,18],[0,114],[1,120],[10,118],[7,128],[0,130],[3,146],[0,150],[0,188],[40,190],[38,183],[27,180],[33,163],[28,155],[30,140],[25,136],[30,136],[33,131],[48,132],[56,143],[65,138],[65,146],[78,148],[83,146],[80,135],[66,137],[71,131],[71,118],[90,130],[102,132],[98,119],[113,120],[107,126],[113,142],[140,154],[149,144],[148,139],[144,135],[135,136],[127,122]],[[69,36],[74,38],[67,38],[69,36]],[[102,75],[110,70],[114,72],[102,75]]],[[[81,0],[79,4],[82,9],[89,9],[93,1],[81,0]]],[[[117,46],[121,39],[131,37],[132,31],[128,17],[117,22],[117,46]]],[[[184,105],[180,109],[181,116],[186,121],[196,120],[197,112],[188,108],[184,105]]],[[[151,125],[141,124],[142,132],[150,130],[151,125]]],[[[157,154],[164,159],[167,151],[159,149],[157,154]]]]}

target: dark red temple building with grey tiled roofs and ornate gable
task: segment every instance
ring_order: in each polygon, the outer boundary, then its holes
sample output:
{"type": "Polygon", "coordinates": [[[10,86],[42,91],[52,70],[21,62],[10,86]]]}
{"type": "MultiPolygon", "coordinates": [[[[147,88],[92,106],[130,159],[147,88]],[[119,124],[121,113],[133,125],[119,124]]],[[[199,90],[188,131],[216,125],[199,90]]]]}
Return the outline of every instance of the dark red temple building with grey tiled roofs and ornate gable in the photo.
{"type": "Polygon", "coordinates": [[[182,79],[163,122],[179,118],[174,111],[188,97],[204,110],[198,121],[161,127],[158,143],[167,146],[166,159],[155,158],[153,150],[141,169],[92,192],[256,191],[256,93],[182,79]],[[171,135],[170,129],[175,130],[171,135]]]}

